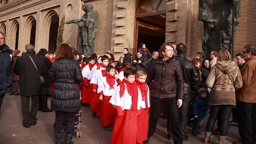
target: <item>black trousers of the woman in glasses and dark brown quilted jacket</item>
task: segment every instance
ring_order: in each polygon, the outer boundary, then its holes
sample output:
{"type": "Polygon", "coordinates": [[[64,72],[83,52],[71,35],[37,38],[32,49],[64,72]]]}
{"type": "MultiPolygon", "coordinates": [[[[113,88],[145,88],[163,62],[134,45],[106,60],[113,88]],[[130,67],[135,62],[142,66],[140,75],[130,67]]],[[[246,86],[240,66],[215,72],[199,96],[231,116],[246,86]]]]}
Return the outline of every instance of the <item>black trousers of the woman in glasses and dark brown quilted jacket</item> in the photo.
{"type": "Polygon", "coordinates": [[[168,119],[171,123],[171,130],[173,134],[174,144],[182,144],[183,135],[181,133],[180,118],[179,118],[179,109],[177,106],[177,98],[167,98],[167,99],[158,99],[156,97],[151,97],[151,114],[149,117],[149,130],[148,137],[154,135],[156,130],[157,122],[160,118],[163,107],[166,106],[168,119]]]}

